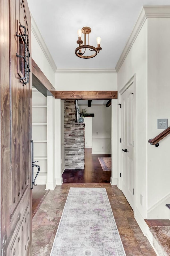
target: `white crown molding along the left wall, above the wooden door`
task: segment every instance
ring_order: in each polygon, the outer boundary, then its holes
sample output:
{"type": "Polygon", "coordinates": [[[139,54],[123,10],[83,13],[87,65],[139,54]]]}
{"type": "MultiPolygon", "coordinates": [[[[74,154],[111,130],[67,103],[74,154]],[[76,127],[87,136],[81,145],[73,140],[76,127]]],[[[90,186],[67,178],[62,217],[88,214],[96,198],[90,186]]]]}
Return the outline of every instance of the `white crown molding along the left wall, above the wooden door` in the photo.
{"type": "Polygon", "coordinates": [[[52,55],[50,54],[45,42],[44,42],[44,39],[40,33],[40,30],[38,29],[37,27],[37,24],[31,14],[31,31],[32,33],[35,35],[35,38],[37,39],[37,42],[39,43],[45,57],[47,58],[50,66],[52,67],[54,73],[56,72],[56,69],[57,69],[57,66],[56,66],[56,63],[54,62],[53,58],[52,58],[52,55]]]}

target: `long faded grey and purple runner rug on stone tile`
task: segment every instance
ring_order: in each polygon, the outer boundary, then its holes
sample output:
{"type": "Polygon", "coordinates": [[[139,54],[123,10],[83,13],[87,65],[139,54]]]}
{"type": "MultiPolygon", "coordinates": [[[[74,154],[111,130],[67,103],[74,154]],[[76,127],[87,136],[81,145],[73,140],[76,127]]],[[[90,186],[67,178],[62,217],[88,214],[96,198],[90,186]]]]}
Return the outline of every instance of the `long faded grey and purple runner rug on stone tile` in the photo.
{"type": "Polygon", "coordinates": [[[50,256],[125,256],[105,188],[70,188],[50,256]]]}

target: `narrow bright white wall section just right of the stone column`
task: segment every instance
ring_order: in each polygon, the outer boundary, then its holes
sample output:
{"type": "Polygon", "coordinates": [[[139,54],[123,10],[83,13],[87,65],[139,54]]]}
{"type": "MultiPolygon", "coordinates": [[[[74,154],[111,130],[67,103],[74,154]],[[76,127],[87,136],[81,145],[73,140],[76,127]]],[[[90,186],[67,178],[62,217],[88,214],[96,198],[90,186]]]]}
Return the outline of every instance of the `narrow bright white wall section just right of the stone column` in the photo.
{"type": "Polygon", "coordinates": [[[84,143],[85,148],[92,149],[92,118],[93,117],[84,117],[84,143]]]}

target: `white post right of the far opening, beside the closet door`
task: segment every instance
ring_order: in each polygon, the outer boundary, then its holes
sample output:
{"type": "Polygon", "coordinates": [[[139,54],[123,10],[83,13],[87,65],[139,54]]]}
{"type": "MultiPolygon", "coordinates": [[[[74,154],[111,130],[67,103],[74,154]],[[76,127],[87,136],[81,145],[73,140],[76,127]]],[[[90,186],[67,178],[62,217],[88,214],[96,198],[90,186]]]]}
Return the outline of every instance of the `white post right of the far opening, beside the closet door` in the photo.
{"type": "Polygon", "coordinates": [[[118,133],[117,133],[117,99],[112,99],[112,177],[111,185],[117,185],[117,150],[118,150],[118,133]]]}

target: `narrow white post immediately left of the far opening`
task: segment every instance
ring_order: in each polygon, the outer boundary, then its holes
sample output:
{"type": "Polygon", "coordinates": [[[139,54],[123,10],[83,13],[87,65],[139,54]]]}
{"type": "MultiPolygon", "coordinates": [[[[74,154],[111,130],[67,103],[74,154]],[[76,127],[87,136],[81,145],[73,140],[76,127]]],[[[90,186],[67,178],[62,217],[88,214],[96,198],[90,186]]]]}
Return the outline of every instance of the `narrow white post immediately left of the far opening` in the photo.
{"type": "Polygon", "coordinates": [[[61,185],[62,158],[61,158],[61,99],[55,99],[55,182],[61,185]]]}

